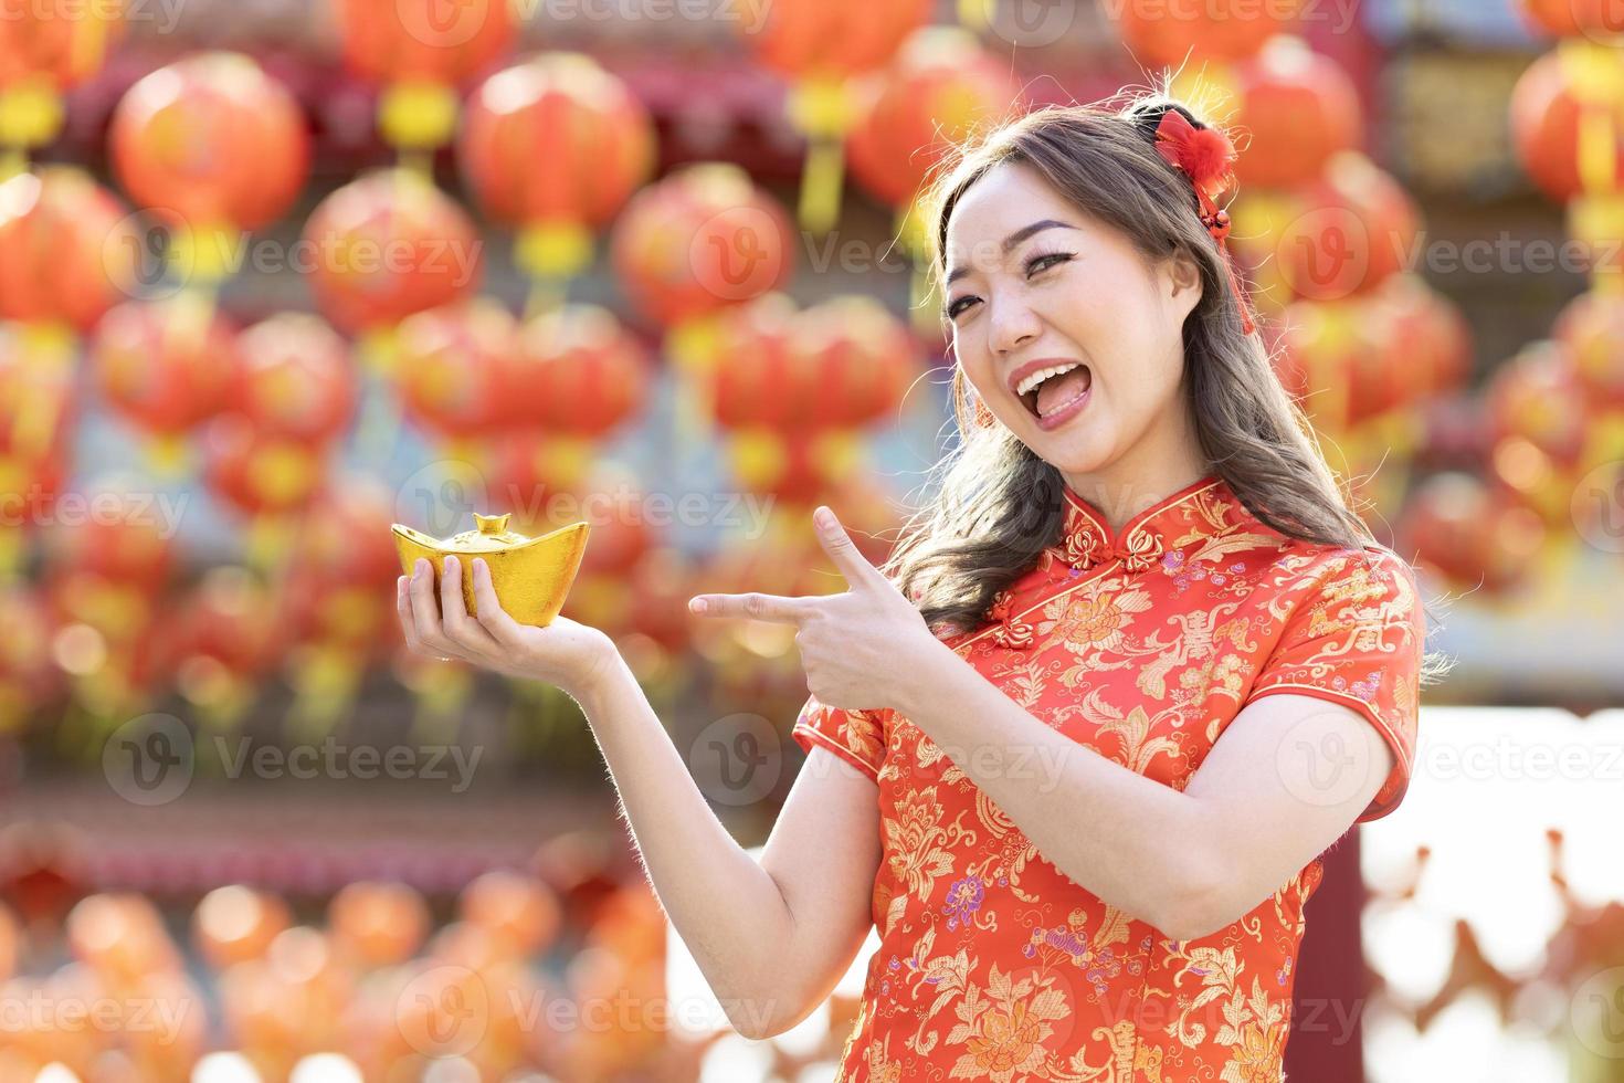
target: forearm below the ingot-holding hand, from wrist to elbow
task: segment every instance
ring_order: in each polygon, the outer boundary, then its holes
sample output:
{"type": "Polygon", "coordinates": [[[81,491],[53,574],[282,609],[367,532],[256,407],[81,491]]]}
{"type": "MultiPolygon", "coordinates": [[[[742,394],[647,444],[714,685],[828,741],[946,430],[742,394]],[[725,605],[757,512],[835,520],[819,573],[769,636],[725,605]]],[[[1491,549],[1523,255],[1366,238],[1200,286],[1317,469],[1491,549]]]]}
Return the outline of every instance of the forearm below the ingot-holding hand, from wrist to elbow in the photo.
{"type": "Polygon", "coordinates": [[[624,662],[578,698],[661,906],[734,1025],[765,1026],[786,1010],[773,961],[794,930],[778,883],[711,812],[624,662]]]}

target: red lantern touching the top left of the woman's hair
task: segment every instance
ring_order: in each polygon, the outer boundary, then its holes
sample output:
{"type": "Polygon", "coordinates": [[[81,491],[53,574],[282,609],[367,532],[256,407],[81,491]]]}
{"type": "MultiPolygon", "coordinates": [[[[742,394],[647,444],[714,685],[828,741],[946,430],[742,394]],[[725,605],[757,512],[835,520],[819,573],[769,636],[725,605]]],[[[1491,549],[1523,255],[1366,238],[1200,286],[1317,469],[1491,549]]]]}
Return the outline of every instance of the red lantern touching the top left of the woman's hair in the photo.
{"type": "Polygon", "coordinates": [[[970,32],[916,31],[851,132],[851,172],[875,198],[908,206],[950,146],[1018,109],[1018,97],[1009,65],[970,32]]]}

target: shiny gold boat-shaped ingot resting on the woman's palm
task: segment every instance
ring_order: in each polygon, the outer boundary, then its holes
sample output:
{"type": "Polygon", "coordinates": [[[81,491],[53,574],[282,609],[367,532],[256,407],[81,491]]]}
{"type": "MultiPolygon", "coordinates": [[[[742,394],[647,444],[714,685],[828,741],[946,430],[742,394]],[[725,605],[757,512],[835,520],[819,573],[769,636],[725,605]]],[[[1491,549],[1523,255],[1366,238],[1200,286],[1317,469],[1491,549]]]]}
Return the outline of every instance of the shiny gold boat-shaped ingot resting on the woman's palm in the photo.
{"type": "Polygon", "coordinates": [[[477,555],[490,568],[490,585],[502,609],[518,623],[542,628],[564,609],[564,599],[581,568],[588,524],[570,523],[539,537],[526,537],[507,528],[508,515],[476,513],[477,529],[463,531],[445,541],[395,523],[395,547],[401,555],[401,568],[411,575],[417,557],[427,559],[434,568],[434,588],[438,598],[445,557],[456,554],[461,565],[463,604],[468,606],[469,615],[479,615],[474,602],[474,567],[469,560],[477,555]]]}

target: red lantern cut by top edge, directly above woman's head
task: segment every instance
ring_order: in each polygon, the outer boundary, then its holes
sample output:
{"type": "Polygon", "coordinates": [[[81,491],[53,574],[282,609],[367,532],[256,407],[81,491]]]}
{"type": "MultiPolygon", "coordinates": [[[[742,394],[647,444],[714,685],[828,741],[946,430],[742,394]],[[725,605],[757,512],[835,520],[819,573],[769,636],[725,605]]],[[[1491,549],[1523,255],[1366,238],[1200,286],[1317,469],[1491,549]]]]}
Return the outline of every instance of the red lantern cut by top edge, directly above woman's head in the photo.
{"type": "Polygon", "coordinates": [[[1163,5],[1127,3],[1116,10],[1116,18],[1135,62],[1177,68],[1189,60],[1249,57],[1273,34],[1291,29],[1301,8],[1301,0],[1268,5],[1208,0],[1174,13],[1163,5]]]}

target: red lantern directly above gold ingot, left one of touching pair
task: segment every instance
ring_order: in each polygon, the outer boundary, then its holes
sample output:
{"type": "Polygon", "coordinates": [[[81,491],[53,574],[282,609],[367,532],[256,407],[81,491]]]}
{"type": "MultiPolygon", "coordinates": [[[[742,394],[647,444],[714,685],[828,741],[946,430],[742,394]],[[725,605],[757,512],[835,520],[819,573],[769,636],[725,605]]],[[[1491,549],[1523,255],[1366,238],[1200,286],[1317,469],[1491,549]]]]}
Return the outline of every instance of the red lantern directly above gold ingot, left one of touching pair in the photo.
{"type": "Polygon", "coordinates": [[[479,437],[508,408],[503,373],[518,326],[500,304],[476,297],[404,320],[395,388],[406,412],[442,437],[479,437]]]}

